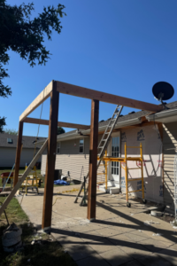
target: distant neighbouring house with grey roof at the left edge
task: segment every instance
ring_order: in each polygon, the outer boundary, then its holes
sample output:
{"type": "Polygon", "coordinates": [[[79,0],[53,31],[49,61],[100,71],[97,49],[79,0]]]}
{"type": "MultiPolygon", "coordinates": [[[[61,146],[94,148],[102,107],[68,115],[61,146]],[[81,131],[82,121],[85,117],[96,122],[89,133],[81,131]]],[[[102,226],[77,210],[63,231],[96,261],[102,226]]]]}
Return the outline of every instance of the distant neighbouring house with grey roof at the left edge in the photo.
{"type": "MultiPolygon", "coordinates": [[[[38,137],[38,141],[46,139],[45,137],[38,137]]],[[[0,134],[0,167],[12,168],[15,163],[16,148],[17,148],[18,136],[10,135],[7,133],[0,134]]],[[[26,166],[29,163],[35,153],[35,141],[36,137],[22,137],[22,152],[20,157],[20,167],[26,166]]],[[[36,151],[39,150],[39,146],[36,146],[36,151]]],[[[41,161],[41,159],[39,160],[41,161]]]]}

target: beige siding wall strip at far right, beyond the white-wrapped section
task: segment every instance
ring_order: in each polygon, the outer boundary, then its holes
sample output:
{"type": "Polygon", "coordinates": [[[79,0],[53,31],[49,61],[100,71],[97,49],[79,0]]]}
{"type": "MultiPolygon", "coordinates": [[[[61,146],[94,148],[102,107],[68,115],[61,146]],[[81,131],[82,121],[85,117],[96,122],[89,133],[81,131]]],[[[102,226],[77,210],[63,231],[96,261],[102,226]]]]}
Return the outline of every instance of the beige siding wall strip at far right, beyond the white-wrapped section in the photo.
{"type": "Polygon", "coordinates": [[[177,122],[163,125],[164,203],[174,211],[174,156],[177,151],[177,122]]]}

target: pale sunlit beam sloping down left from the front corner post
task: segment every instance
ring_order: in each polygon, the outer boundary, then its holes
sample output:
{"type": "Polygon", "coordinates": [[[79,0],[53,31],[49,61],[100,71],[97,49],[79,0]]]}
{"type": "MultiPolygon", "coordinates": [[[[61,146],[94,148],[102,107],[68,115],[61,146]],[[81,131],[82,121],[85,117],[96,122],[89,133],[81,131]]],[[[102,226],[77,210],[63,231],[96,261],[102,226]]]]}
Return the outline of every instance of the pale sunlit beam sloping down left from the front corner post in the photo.
{"type": "Polygon", "coordinates": [[[27,107],[27,109],[23,113],[21,113],[21,115],[19,116],[19,121],[23,121],[27,117],[27,115],[32,113],[35,108],[40,106],[44,100],[49,98],[51,90],[52,82],[50,82],[49,85],[45,87],[45,89],[42,90],[42,92],[35,98],[35,100],[27,107]]]}

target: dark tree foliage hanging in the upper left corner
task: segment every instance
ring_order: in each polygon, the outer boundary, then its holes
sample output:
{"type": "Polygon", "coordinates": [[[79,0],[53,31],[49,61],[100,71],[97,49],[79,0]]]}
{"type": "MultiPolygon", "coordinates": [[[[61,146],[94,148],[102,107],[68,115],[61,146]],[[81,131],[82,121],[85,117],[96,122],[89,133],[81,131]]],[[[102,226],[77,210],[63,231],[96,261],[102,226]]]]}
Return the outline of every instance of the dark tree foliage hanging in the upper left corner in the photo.
{"type": "MultiPolygon", "coordinates": [[[[26,59],[30,66],[45,65],[50,59],[50,51],[44,46],[44,36],[51,40],[52,30],[61,32],[59,17],[65,15],[65,6],[58,4],[43,7],[43,12],[31,20],[34,4],[10,5],[6,0],[0,0],[0,96],[7,98],[12,95],[12,89],[4,85],[4,78],[8,77],[5,65],[9,63],[8,51],[19,53],[21,59],[26,59]]],[[[3,117],[4,121],[5,118],[3,117]]],[[[3,121],[3,122],[4,122],[3,121]]],[[[4,123],[0,121],[0,131],[4,123]]]]}

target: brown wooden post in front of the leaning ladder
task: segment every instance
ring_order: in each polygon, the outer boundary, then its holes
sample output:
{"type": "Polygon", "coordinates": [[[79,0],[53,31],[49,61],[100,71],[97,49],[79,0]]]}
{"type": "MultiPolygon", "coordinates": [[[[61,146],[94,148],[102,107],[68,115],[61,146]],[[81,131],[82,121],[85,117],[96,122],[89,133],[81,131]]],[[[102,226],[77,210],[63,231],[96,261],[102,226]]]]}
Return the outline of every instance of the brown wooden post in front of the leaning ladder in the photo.
{"type": "Polygon", "coordinates": [[[91,103],[91,126],[89,142],[89,192],[88,219],[96,219],[96,174],[97,174],[97,143],[98,143],[99,101],[91,103]]]}

